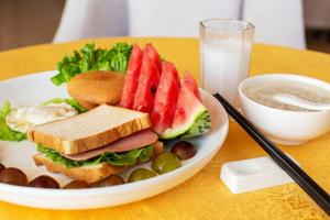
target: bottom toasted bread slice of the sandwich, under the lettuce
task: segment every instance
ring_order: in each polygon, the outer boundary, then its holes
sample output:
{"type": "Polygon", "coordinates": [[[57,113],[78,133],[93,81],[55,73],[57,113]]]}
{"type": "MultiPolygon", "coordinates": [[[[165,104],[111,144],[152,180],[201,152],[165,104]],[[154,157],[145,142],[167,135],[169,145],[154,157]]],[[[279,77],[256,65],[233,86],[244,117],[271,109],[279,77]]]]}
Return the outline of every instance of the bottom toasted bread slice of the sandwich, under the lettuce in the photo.
{"type": "Polygon", "coordinates": [[[108,162],[94,166],[66,168],[63,164],[54,163],[51,158],[46,157],[45,154],[36,154],[33,156],[33,160],[37,166],[45,165],[48,172],[62,173],[70,178],[85,180],[88,184],[101,180],[111,174],[119,174],[125,169],[124,166],[112,166],[108,162]]]}

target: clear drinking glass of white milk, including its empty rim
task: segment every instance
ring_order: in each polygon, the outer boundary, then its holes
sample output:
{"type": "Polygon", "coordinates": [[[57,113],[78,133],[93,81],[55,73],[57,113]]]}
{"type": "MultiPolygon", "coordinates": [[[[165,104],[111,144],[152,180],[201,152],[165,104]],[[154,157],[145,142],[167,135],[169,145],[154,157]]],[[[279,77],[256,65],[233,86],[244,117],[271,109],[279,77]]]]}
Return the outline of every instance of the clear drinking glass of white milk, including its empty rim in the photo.
{"type": "Polygon", "coordinates": [[[202,88],[219,92],[239,109],[239,84],[248,77],[253,24],[240,20],[209,19],[200,22],[202,88]]]}

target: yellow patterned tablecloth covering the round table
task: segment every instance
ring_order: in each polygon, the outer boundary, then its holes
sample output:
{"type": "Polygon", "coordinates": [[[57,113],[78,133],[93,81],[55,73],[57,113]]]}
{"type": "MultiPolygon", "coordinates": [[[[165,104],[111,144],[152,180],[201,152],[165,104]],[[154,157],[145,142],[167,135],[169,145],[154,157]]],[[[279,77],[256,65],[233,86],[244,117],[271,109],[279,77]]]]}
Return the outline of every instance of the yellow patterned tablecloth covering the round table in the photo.
{"type": "MultiPolygon", "coordinates": [[[[99,47],[116,42],[152,42],[160,54],[177,65],[180,73],[190,70],[199,78],[198,41],[196,38],[98,38],[99,47]]],[[[46,44],[0,53],[0,79],[50,70],[80,41],[46,44]]],[[[260,73],[296,73],[330,81],[330,56],[256,44],[251,75],[260,73]]],[[[285,125],[285,124],[284,124],[285,125]]],[[[330,133],[301,146],[282,146],[300,162],[304,169],[330,191],[330,133]]],[[[199,174],[162,195],[134,204],[85,211],[54,211],[20,207],[0,201],[1,220],[34,219],[328,219],[327,215],[296,185],[232,195],[219,179],[224,162],[263,156],[265,153],[235,123],[224,145],[199,174]]]]}

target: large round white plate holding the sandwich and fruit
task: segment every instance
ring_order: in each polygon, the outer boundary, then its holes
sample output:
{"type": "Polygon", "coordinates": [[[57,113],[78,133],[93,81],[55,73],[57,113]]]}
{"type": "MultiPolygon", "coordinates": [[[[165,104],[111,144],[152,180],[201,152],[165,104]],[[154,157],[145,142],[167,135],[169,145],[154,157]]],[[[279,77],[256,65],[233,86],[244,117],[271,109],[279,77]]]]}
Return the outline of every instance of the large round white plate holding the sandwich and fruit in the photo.
{"type": "MultiPolygon", "coordinates": [[[[0,81],[0,103],[9,100],[12,107],[38,105],[52,98],[68,97],[65,85],[57,87],[51,81],[56,72],[45,72],[0,81]]],[[[42,189],[0,184],[0,199],[46,209],[91,209],[123,205],[155,196],[168,190],[198,173],[221,147],[228,133],[228,117],[221,105],[208,92],[201,90],[204,103],[210,111],[212,129],[206,135],[191,140],[198,153],[183,166],[170,173],[132,184],[89,189],[42,189]]],[[[29,141],[0,141],[0,162],[7,167],[22,169],[29,180],[38,175],[53,176],[63,186],[70,179],[62,174],[48,173],[36,167],[32,161],[36,146],[29,141]]],[[[150,166],[144,164],[143,166],[150,166]]],[[[132,168],[131,168],[132,169],[132,168]]],[[[131,170],[123,174],[127,178],[131,170]]]]}

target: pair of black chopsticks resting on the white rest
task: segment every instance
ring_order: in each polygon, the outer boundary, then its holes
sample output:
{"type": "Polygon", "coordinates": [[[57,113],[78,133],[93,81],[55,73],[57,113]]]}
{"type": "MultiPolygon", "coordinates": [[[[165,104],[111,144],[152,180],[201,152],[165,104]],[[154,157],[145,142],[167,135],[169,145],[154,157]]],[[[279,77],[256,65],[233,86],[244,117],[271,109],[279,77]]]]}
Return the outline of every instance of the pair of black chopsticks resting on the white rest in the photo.
{"type": "Polygon", "coordinates": [[[213,95],[226,111],[258,143],[258,145],[280,166],[328,215],[330,215],[330,196],[310,178],[283,151],[265,138],[245,117],[232,107],[219,94],[213,95]]]}

